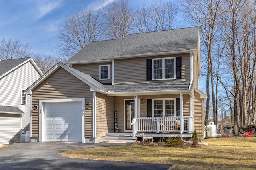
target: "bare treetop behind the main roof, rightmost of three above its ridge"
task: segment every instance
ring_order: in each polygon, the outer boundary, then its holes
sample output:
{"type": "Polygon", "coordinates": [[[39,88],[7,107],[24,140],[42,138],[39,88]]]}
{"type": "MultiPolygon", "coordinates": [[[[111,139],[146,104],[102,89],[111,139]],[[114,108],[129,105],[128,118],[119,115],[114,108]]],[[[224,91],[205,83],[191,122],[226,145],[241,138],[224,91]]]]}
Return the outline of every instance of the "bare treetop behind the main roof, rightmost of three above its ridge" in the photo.
{"type": "MultiPolygon", "coordinates": [[[[176,24],[178,5],[173,1],[144,2],[134,12],[134,26],[140,32],[172,29],[176,24]]],[[[137,31],[136,30],[136,31],[137,31]]]]}

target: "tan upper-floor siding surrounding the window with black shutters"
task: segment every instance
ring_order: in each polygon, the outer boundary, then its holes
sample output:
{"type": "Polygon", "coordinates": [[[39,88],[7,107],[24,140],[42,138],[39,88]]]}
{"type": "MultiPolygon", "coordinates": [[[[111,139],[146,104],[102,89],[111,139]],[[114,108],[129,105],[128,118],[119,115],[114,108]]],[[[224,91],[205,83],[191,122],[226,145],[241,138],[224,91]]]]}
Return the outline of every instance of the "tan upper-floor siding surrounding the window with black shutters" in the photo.
{"type": "Polygon", "coordinates": [[[190,81],[190,54],[164,55],[154,57],[138,57],[130,59],[114,60],[114,82],[115,84],[146,82],[146,60],[164,57],[182,56],[182,79],[177,80],[153,80],[151,82],[176,82],[190,81]]]}

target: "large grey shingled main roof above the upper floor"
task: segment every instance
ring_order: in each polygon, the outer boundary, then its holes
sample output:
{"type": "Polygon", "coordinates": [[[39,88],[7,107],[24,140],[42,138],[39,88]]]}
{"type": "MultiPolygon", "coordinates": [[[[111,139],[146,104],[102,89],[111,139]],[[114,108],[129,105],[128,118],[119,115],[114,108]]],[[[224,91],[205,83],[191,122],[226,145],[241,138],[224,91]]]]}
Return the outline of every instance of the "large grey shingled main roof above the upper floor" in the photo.
{"type": "Polygon", "coordinates": [[[124,39],[94,41],[66,63],[105,60],[109,57],[197,49],[198,27],[127,35],[124,39]]]}

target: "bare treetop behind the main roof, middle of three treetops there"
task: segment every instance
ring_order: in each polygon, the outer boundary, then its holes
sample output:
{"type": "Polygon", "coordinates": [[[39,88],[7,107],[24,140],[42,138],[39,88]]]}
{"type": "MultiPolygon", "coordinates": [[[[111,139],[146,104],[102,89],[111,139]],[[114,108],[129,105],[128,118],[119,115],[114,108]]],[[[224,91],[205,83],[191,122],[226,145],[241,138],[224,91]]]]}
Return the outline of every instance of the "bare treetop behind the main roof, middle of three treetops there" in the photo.
{"type": "Polygon", "coordinates": [[[108,4],[103,12],[105,36],[108,39],[120,39],[126,37],[132,31],[133,13],[127,0],[114,0],[108,4]]]}

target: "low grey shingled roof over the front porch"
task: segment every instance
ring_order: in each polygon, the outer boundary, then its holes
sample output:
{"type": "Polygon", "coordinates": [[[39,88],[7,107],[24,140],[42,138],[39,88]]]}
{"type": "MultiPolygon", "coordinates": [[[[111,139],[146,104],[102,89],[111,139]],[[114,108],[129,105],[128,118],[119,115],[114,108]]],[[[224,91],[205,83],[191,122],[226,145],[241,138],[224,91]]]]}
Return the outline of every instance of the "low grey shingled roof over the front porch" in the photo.
{"type": "Polygon", "coordinates": [[[156,82],[156,83],[140,83],[140,84],[116,84],[105,85],[105,87],[113,93],[126,93],[126,92],[156,92],[156,91],[176,91],[176,90],[190,90],[190,81],[184,82],[156,82]]]}

